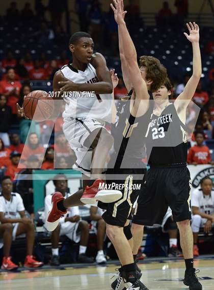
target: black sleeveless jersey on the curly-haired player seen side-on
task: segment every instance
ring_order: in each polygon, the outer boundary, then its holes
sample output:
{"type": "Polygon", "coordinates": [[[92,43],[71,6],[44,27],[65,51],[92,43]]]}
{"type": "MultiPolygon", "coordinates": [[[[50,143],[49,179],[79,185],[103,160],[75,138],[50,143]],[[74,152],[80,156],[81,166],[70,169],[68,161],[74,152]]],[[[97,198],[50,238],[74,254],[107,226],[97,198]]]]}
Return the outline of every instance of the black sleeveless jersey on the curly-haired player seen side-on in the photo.
{"type": "MultiPolygon", "coordinates": [[[[117,121],[112,127],[114,137],[114,150],[117,156],[116,164],[127,161],[127,168],[132,162],[141,161],[145,157],[145,134],[149,117],[153,111],[153,102],[150,101],[148,111],[141,117],[133,117],[130,113],[130,96],[128,100],[121,100],[118,106],[117,121]]],[[[150,94],[152,99],[152,94],[150,94]]],[[[142,162],[141,162],[142,163],[142,162]]]]}

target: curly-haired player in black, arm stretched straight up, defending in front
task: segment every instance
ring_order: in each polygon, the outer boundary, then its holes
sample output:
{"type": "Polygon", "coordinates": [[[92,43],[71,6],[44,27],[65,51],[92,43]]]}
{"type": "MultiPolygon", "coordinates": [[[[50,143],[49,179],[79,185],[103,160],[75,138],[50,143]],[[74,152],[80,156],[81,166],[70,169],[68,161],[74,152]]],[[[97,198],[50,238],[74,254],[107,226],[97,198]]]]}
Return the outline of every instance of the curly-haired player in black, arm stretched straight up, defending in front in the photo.
{"type": "MultiPolygon", "coordinates": [[[[113,243],[122,267],[120,279],[124,284],[120,287],[118,281],[112,284],[114,289],[148,290],[139,280],[139,273],[133,260],[130,227],[126,227],[126,221],[131,212],[132,204],[144,186],[146,165],[142,163],[145,154],[145,135],[149,118],[153,111],[153,103],[150,91],[156,89],[165,82],[166,68],[153,57],[141,57],[140,68],[137,62],[137,52],[130,38],[124,21],[123,2],[114,1],[111,5],[115,20],[118,23],[119,49],[122,63],[122,73],[128,90],[133,88],[118,110],[117,121],[113,128],[114,153],[106,172],[106,182],[113,182],[119,186],[125,184],[120,200],[108,203],[106,212],[102,215],[106,222],[106,234],[113,243]],[[111,177],[115,177],[114,180],[111,177]],[[134,190],[135,184],[140,190],[134,190]]],[[[98,202],[98,206],[102,204],[98,202]]]]}

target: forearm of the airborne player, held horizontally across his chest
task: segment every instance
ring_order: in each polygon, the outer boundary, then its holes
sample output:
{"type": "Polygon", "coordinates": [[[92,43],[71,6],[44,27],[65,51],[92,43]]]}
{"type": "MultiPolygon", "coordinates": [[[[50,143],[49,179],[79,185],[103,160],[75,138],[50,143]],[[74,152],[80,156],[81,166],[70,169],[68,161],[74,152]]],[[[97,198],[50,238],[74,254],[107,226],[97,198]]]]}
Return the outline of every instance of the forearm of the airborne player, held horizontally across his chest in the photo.
{"type": "Polygon", "coordinates": [[[94,84],[76,84],[77,92],[95,92],[95,94],[111,94],[112,84],[108,82],[98,82],[94,84]]]}

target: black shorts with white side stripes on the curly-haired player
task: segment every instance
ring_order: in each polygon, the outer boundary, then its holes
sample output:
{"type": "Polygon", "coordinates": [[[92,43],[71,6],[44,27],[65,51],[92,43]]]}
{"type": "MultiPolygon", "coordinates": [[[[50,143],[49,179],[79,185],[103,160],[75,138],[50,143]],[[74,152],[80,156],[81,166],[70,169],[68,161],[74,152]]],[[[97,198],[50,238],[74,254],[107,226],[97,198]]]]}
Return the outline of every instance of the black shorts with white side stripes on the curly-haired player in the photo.
{"type": "MultiPolygon", "coordinates": [[[[117,174],[124,176],[123,179],[118,180],[108,180],[106,178],[107,184],[112,184],[115,182],[118,184],[118,189],[122,192],[121,199],[106,203],[103,206],[103,203],[98,202],[98,206],[106,209],[106,212],[102,215],[102,218],[107,224],[116,225],[123,227],[127,219],[130,219],[131,209],[133,203],[135,203],[138,195],[142,192],[146,169],[108,169],[106,176],[112,174],[117,176],[117,174]],[[123,185],[123,189],[121,189],[123,185]]],[[[116,189],[116,188],[115,188],[116,189]]]]}

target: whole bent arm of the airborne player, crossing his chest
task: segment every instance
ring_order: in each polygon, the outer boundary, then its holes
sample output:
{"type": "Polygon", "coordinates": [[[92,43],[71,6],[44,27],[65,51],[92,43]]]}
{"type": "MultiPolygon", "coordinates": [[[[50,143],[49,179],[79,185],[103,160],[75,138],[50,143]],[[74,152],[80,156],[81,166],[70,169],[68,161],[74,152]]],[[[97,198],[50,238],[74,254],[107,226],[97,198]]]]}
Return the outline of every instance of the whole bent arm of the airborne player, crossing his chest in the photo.
{"type": "Polygon", "coordinates": [[[92,56],[91,64],[96,69],[99,82],[94,84],[76,84],[69,80],[60,81],[61,91],[95,92],[95,94],[111,94],[113,90],[112,79],[104,57],[96,52],[92,56]]]}

